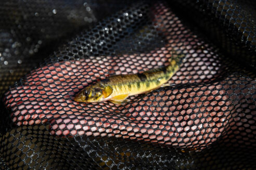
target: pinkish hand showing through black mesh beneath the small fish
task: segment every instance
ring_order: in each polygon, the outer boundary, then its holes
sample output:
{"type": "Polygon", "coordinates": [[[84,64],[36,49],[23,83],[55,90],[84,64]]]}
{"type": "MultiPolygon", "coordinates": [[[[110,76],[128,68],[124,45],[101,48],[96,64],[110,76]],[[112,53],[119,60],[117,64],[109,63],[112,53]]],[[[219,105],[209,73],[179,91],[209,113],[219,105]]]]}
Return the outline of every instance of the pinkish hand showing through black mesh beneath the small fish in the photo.
{"type": "Polygon", "coordinates": [[[201,71],[194,67],[188,73],[186,65],[191,59],[198,60],[199,55],[187,58],[169,81],[176,86],[131,97],[125,105],[73,101],[88,83],[104,79],[109,73],[135,74],[168,64],[171,54],[161,53],[92,56],[47,65],[28,75],[23,86],[7,92],[5,104],[15,124],[50,124],[52,135],[115,136],[184,148],[206,147],[230,125],[232,114],[228,110],[234,106],[223,90],[225,82],[211,82],[205,79],[208,75],[197,76],[201,71]],[[211,86],[196,83],[187,87],[187,82],[200,81],[209,81],[211,86]]]}

